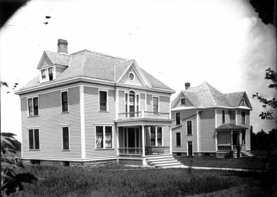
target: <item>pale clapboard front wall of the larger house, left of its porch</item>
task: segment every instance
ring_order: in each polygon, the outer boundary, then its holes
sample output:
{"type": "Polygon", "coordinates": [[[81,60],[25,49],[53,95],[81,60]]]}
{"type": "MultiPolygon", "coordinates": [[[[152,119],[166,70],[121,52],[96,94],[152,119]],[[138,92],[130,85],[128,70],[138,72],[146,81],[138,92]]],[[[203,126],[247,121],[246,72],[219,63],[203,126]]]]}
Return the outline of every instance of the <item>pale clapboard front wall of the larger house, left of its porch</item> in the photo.
{"type": "Polygon", "coordinates": [[[116,156],[115,91],[108,90],[108,111],[99,111],[97,87],[84,86],[86,159],[107,159],[116,156]],[[112,126],[112,149],[95,149],[95,126],[112,126]]]}

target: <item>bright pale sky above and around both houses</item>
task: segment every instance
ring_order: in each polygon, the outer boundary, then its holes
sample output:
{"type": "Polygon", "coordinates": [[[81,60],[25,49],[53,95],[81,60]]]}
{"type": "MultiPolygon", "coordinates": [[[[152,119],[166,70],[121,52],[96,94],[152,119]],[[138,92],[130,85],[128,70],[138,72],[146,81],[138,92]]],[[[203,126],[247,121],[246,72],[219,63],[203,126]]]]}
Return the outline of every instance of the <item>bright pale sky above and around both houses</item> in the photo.
{"type": "MultiPolygon", "coordinates": [[[[186,82],[246,91],[253,131],[269,131],[275,123],[260,120],[262,105],[251,95],[276,96],[264,79],[267,68],[276,68],[275,31],[243,0],[30,1],[0,29],[0,77],[17,88],[28,83],[43,51],[56,52],[62,38],[69,53],[88,49],[135,59],[176,91],[172,99],[186,82]]],[[[19,96],[7,91],[1,89],[1,131],[21,141],[19,96]]]]}

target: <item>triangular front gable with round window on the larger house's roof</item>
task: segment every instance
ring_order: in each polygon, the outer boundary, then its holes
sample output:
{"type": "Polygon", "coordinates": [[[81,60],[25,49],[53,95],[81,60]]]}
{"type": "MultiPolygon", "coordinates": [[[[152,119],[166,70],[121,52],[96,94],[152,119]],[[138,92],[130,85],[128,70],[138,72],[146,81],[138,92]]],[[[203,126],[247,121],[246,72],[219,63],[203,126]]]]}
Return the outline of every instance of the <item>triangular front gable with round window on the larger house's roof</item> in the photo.
{"type": "Polygon", "coordinates": [[[142,70],[134,60],[118,63],[115,68],[115,74],[120,73],[120,76],[115,79],[116,83],[123,83],[134,86],[151,87],[142,70]],[[122,68],[122,70],[120,70],[122,68]]]}

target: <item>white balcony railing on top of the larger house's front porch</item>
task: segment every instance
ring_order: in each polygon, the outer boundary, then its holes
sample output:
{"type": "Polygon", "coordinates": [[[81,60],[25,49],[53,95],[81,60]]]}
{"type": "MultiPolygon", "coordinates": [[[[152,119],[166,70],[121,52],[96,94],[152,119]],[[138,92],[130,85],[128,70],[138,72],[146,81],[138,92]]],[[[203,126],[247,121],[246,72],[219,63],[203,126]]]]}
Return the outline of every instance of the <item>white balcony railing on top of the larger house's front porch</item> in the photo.
{"type": "Polygon", "coordinates": [[[169,119],[169,113],[167,112],[154,112],[154,111],[135,111],[127,113],[118,113],[118,120],[124,119],[169,119]]]}

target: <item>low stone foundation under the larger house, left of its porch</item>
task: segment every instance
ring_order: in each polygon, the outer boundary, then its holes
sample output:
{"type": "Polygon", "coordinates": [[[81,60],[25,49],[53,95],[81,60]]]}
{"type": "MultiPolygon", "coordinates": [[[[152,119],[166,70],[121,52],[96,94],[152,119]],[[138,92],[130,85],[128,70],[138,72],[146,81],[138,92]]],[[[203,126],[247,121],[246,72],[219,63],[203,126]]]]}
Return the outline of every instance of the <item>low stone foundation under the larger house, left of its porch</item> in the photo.
{"type": "MultiPolygon", "coordinates": [[[[32,160],[22,160],[24,165],[31,165],[32,160]]],[[[90,161],[90,162],[74,162],[74,161],[52,161],[52,160],[38,160],[43,165],[59,165],[70,167],[109,167],[117,164],[117,160],[102,160],[102,161],[90,161]]]]}

